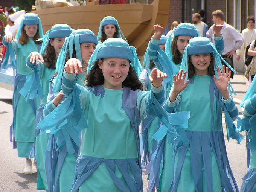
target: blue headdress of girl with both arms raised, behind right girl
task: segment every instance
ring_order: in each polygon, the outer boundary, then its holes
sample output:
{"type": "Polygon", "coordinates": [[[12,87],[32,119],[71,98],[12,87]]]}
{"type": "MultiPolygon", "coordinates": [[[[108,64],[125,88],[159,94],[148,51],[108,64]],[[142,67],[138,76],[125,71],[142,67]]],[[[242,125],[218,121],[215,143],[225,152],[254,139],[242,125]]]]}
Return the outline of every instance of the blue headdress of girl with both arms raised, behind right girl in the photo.
{"type": "Polygon", "coordinates": [[[198,37],[200,34],[199,34],[199,31],[195,28],[195,26],[192,25],[191,23],[180,23],[177,26],[177,28],[174,28],[174,30],[172,30],[172,33],[168,37],[166,44],[165,44],[165,53],[171,59],[172,59],[172,50],[171,50],[172,40],[175,37],[180,36],[180,35],[198,37]]]}

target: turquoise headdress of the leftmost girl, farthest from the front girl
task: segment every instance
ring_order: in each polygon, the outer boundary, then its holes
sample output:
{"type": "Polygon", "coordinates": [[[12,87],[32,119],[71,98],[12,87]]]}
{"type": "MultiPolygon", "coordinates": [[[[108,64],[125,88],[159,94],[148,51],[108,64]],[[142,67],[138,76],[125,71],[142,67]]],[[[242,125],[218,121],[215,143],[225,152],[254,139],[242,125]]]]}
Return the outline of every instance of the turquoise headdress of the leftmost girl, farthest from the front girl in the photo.
{"type": "Polygon", "coordinates": [[[35,13],[26,13],[21,20],[15,39],[19,39],[24,25],[38,25],[39,38],[44,37],[41,19],[35,13]]]}

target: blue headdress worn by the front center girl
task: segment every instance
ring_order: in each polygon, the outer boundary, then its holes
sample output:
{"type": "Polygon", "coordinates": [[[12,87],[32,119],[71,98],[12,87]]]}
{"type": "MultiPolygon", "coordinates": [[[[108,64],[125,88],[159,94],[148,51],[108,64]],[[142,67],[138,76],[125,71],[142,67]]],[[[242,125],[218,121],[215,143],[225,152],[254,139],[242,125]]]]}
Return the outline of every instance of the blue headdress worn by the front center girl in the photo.
{"type": "Polygon", "coordinates": [[[129,46],[125,40],[120,38],[110,38],[103,41],[102,44],[98,44],[89,60],[87,73],[90,72],[96,60],[112,57],[128,59],[134,72],[137,73],[137,77],[139,77],[142,67],[136,53],[136,48],[129,46]]]}

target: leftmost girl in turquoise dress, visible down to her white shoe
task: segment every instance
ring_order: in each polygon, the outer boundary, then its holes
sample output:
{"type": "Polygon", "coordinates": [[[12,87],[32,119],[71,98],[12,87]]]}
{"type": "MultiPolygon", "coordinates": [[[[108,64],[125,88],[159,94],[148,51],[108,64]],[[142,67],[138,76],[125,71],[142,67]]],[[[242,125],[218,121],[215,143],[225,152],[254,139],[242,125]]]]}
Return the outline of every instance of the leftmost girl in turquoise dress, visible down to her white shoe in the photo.
{"type": "Polygon", "coordinates": [[[14,80],[13,94],[14,117],[10,133],[14,148],[18,149],[18,157],[26,158],[25,174],[33,173],[29,152],[34,142],[35,114],[39,106],[39,98],[26,100],[19,91],[23,87],[26,77],[33,73],[27,69],[26,59],[32,51],[40,51],[41,41],[37,41],[38,38],[43,38],[41,20],[37,14],[26,13],[21,20],[15,40],[11,34],[6,35],[3,39],[4,45],[8,46],[11,58],[14,58],[14,53],[17,55],[17,75],[14,80]],[[26,109],[26,113],[24,113],[24,109],[26,109]]]}

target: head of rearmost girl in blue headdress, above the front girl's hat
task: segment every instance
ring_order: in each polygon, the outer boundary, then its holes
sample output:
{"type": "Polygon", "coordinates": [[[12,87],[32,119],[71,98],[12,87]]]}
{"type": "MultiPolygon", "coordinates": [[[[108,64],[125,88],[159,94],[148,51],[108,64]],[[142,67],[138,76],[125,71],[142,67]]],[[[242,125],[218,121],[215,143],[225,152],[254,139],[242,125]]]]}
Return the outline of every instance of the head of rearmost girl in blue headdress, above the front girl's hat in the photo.
{"type": "Polygon", "coordinates": [[[122,38],[122,36],[126,40],[118,21],[111,16],[104,17],[99,25],[98,40],[103,42],[109,38],[122,38]]]}

